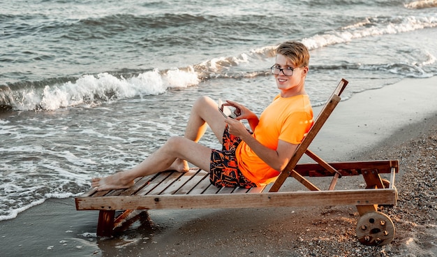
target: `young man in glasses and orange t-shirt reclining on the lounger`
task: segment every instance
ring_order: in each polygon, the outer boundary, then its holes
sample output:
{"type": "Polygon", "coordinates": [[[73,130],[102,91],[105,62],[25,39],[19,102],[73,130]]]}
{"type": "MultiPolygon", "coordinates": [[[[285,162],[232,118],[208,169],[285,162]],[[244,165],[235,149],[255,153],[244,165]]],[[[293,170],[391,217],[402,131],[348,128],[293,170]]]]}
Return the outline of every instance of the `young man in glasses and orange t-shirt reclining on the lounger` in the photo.
{"type": "Polygon", "coordinates": [[[188,162],[209,172],[216,186],[261,186],[273,182],[290,161],[295,149],[313,124],[313,110],[304,82],[309,51],[302,43],[288,41],[276,48],[274,74],[280,94],[262,112],[260,119],[239,103],[235,119],[219,112],[217,103],[202,96],[193,104],[184,137],[171,137],[156,152],[131,170],[92,179],[98,191],[124,189],[133,179],[163,170],[188,171],[188,162]],[[250,133],[240,122],[247,119],[250,133]],[[210,126],[223,145],[221,151],[198,144],[210,126]]]}

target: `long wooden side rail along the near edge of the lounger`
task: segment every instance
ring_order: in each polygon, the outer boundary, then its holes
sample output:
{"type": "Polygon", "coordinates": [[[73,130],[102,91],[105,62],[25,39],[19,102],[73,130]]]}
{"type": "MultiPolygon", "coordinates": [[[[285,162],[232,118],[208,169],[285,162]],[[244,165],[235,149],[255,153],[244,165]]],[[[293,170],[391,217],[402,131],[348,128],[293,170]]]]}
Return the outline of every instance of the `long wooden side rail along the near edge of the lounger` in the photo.
{"type": "Polygon", "coordinates": [[[395,189],[77,198],[78,210],[394,205],[395,189]]]}

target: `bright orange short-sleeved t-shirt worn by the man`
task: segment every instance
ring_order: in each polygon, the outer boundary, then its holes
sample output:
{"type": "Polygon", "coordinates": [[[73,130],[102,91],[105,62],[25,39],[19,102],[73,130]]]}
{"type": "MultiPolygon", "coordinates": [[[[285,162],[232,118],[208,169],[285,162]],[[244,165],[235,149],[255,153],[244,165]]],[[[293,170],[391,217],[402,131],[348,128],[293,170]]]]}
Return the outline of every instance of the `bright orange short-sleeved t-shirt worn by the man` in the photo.
{"type": "MultiPolygon", "coordinates": [[[[298,145],[313,125],[313,109],[308,95],[276,96],[260,116],[253,137],[265,147],[276,150],[279,140],[298,145]]],[[[242,141],[235,152],[239,170],[257,186],[273,182],[279,175],[242,141]]]]}

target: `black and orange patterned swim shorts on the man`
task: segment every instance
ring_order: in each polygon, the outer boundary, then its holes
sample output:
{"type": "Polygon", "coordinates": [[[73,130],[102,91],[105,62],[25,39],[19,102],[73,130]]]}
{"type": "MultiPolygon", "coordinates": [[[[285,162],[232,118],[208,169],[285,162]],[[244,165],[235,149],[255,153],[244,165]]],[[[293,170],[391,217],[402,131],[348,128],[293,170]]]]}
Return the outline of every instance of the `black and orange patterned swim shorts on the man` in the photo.
{"type": "Polygon", "coordinates": [[[231,135],[226,125],[223,132],[223,149],[221,151],[212,149],[211,153],[209,180],[214,186],[239,186],[245,189],[256,186],[255,183],[246,179],[238,168],[235,150],[240,142],[242,142],[241,138],[231,135]]]}

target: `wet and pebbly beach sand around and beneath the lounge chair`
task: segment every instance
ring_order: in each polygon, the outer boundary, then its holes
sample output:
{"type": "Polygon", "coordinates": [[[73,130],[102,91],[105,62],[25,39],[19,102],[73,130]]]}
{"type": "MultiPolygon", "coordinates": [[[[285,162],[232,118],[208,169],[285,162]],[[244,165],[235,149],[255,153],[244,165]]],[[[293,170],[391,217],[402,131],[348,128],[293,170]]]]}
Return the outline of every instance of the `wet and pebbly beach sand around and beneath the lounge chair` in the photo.
{"type": "MultiPolygon", "coordinates": [[[[355,94],[339,104],[310,147],[325,161],[399,159],[399,200],[383,209],[396,227],[387,246],[357,241],[355,206],[152,210],[151,227],[134,224],[117,237],[96,238],[98,212],[78,212],[68,198],[0,221],[0,255],[437,256],[436,91],[434,77],[355,94]]],[[[343,177],[337,189],[362,184],[361,177],[343,177]]]]}

